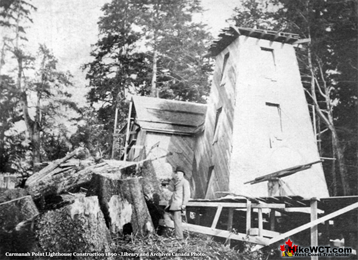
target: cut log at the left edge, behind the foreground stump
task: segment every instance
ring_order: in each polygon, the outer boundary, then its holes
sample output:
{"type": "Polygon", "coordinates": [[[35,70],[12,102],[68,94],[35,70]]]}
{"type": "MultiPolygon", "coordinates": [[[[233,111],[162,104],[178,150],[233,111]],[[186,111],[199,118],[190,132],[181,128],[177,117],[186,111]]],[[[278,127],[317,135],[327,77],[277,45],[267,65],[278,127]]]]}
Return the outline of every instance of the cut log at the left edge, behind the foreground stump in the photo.
{"type": "Polygon", "coordinates": [[[0,203],[0,229],[9,232],[26,219],[38,215],[39,211],[30,195],[0,203]]]}

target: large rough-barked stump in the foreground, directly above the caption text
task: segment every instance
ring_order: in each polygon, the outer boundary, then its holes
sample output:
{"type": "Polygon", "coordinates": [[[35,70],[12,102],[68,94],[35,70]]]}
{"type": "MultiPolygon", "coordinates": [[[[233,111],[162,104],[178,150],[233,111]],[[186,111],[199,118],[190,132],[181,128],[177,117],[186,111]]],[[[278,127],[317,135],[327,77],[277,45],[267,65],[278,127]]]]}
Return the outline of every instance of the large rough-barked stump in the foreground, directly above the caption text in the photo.
{"type": "Polygon", "coordinates": [[[36,219],[34,230],[43,251],[103,253],[110,249],[110,233],[96,196],[44,213],[36,219]]]}

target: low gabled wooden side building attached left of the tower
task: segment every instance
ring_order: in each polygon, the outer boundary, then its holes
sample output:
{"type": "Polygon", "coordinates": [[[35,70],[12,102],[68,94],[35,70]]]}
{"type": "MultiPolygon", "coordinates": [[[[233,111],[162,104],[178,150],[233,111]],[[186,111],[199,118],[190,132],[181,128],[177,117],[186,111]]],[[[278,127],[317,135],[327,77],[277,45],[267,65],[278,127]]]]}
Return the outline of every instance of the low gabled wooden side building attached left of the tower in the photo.
{"type": "Polygon", "coordinates": [[[183,166],[191,178],[195,136],[203,130],[207,105],[184,101],[133,96],[130,116],[121,132],[127,131],[124,160],[153,161],[158,177],[170,178],[171,172],[161,172],[169,162],[183,166]],[[170,155],[169,155],[170,154],[170,155]]]}

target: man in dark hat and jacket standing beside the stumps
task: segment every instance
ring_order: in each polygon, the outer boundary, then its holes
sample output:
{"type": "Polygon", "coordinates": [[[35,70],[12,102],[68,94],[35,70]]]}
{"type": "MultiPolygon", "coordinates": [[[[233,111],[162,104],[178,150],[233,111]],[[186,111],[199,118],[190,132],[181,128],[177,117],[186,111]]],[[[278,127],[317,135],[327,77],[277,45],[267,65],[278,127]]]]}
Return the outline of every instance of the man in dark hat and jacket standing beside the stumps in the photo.
{"type": "Polygon", "coordinates": [[[184,178],[185,171],[183,167],[176,167],[173,172],[173,179],[169,183],[168,189],[173,191],[169,201],[169,210],[173,214],[175,236],[178,239],[183,239],[183,226],[182,226],[182,212],[190,199],[190,185],[189,181],[184,178]]]}

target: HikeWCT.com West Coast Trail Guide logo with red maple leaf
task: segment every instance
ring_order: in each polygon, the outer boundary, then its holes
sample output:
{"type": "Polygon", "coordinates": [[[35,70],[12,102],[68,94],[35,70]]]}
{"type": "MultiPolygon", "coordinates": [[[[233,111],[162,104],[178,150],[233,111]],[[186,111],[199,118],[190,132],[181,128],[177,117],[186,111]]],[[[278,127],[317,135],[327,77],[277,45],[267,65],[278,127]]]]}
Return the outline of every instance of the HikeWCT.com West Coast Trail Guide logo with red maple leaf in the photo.
{"type": "Polygon", "coordinates": [[[352,248],[332,248],[330,246],[310,246],[309,248],[301,248],[293,245],[289,239],[284,245],[280,245],[282,251],[281,256],[349,256],[352,248]]]}

